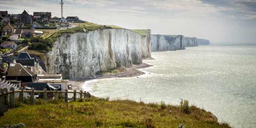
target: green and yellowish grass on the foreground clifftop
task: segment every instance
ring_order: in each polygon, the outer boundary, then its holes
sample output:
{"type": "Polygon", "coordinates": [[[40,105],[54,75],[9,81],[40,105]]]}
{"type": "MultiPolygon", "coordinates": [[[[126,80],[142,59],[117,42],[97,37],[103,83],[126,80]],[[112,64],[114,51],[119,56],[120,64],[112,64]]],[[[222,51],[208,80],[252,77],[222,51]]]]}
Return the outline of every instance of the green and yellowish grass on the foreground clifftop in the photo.
{"type": "Polygon", "coordinates": [[[190,106],[189,114],[179,106],[164,102],[143,103],[130,100],[79,99],[80,102],[36,101],[39,105],[19,105],[0,117],[0,127],[23,123],[28,128],[230,128],[218,123],[210,112],[190,106]]]}

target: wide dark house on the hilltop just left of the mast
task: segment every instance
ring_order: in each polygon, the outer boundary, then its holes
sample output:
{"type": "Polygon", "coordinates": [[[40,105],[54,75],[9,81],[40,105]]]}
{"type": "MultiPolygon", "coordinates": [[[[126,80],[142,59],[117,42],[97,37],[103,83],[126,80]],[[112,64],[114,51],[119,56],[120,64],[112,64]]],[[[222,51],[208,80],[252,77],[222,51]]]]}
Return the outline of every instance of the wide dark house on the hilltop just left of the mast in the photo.
{"type": "Polygon", "coordinates": [[[34,17],[33,21],[41,23],[44,21],[49,21],[50,18],[52,17],[52,13],[51,12],[34,12],[33,17],[34,17]]]}

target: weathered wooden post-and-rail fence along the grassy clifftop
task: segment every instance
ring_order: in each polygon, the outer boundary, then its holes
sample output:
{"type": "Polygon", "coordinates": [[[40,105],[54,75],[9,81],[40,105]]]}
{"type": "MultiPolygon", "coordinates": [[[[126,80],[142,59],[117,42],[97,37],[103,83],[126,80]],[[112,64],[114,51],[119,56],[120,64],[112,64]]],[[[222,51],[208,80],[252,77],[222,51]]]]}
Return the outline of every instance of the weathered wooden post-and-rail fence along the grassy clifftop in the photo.
{"type": "Polygon", "coordinates": [[[20,90],[14,90],[14,87],[11,87],[9,91],[7,90],[7,88],[0,89],[0,116],[3,116],[4,112],[8,111],[8,94],[10,94],[10,108],[15,107],[15,93],[19,93],[19,101],[21,103],[24,103],[24,93],[30,93],[30,105],[34,105],[35,103],[35,93],[43,93],[44,100],[47,100],[47,93],[54,93],[54,99],[58,99],[59,93],[64,93],[65,102],[68,102],[68,93],[74,94],[74,101],[76,101],[77,99],[76,94],[80,94],[80,98],[91,97],[91,94],[89,92],[86,93],[86,91],[83,92],[82,90],[78,92],[76,90],[68,91],[67,89],[65,91],[58,91],[57,89],[55,89],[54,91],[47,91],[46,89],[44,89],[44,91],[35,91],[34,88],[32,88],[31,90],[24,90],[23,87],[20,87],[20,90]]]}

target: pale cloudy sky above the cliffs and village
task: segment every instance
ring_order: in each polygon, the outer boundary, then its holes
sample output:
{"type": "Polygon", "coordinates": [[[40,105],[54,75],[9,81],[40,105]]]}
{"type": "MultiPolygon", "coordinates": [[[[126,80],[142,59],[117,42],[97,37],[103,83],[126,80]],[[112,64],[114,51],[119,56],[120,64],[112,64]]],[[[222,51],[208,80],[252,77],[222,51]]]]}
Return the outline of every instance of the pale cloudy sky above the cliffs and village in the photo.
{"type": "MultiPolygon", "coordinates": [[[[0,11],[52,12],[61,0],[0,0],[0,11]]],[[[63,16],[151,34],[184,35],[211,42],[256,42],[256,0],[63,0],[63,16]]]]}

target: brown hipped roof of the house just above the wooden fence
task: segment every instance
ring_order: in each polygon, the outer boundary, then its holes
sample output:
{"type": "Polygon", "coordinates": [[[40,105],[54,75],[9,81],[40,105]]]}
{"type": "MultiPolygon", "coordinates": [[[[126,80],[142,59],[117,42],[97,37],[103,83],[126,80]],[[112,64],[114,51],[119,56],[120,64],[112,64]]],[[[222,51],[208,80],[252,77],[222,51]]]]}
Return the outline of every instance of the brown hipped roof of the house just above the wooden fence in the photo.
{"type": "Polygon", "coordinates": [[[34,76],[34,72],[19,63],[11,63],[7,69],[7,76],[34,76]]]}

